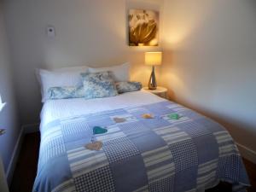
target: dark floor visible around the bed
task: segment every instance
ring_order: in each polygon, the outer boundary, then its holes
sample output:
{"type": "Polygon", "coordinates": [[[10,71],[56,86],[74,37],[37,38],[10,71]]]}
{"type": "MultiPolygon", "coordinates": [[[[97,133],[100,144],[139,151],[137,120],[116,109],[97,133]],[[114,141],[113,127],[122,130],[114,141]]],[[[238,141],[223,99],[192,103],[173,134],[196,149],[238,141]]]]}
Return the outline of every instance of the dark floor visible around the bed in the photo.
{"type": "MultiPolygon", "coordinates": [[[[32,185],[37,173],[39,142],[40,134],[38,132],[30,133],[25,136],[15,168],[13,182],[10,186],[10,192],[32,191],[32,185]]],[[[252,187],[247,189],[247,191],[256,191],[256,165],[248,160],[243,161],[252,184],[252,187]]],[[[220,183],[217,187],[207,190],[207,192],[217,191],[230,191],[230,184],[220,183]]]]}

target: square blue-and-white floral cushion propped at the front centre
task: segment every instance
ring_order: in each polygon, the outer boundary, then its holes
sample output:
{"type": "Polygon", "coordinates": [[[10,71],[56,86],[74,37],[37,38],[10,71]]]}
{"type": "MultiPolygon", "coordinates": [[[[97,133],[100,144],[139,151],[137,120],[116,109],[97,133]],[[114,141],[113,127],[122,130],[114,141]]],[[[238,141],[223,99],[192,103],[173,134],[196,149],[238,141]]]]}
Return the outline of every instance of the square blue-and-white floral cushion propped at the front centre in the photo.
{"type": "Polygon", "coordinates": [[[85,99],[118,95],[110,72],[81,73],[81,76],[83,77],[85,99]]]}

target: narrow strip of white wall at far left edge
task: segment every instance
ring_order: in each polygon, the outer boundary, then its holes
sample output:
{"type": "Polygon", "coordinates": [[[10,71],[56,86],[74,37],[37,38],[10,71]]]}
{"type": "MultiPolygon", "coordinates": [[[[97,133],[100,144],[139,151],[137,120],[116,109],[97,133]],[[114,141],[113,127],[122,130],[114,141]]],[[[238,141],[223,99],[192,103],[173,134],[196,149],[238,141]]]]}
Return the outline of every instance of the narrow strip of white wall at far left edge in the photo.
{"type": "Polygon", "coordinates": [[[9,162],[20,133],[14,90],[9,45],[3,20],[3,4],[0,1],[0,95],[3,102],[7,102],[0,112],[0,128],[6,129],[6,134],[0,136],[0,158],[3,159],[5,172],[8,171],[9,162]]]}

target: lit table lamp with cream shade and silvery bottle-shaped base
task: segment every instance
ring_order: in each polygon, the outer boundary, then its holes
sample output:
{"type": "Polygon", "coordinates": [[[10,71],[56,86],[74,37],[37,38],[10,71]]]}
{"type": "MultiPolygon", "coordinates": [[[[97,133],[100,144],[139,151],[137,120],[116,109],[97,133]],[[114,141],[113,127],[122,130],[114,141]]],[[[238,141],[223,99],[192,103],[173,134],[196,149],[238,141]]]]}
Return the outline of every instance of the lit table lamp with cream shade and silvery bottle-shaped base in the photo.
{"type": "Polygon", "coordinates": [[[152,66],[152,73],[148,81],[148,89],[156,90],[157,84],[154,74],[154,66],[160,66],[162,64],[162,52],[146,52],[145,64],[148,66],[152,66]]]}

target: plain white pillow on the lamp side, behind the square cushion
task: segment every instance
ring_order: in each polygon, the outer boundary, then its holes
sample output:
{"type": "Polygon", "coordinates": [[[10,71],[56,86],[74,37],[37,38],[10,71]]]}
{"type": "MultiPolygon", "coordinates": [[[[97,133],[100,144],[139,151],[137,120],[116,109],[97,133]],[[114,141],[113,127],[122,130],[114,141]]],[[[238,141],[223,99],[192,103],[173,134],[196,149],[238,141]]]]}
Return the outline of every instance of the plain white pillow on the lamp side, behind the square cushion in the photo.
{"type": "Polygon", "coordinates": [[[100,67],[100,68],[92,68],[89,67],[90,73],[97,73],[97,72],[107,72],[110,71],[113,73],[113,80],[114,81],[129,81],[130,79],[130,63],[125,62],[124,64],[112,67],[100,67]]]}

